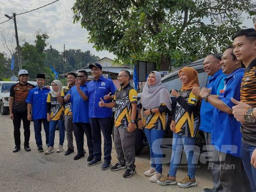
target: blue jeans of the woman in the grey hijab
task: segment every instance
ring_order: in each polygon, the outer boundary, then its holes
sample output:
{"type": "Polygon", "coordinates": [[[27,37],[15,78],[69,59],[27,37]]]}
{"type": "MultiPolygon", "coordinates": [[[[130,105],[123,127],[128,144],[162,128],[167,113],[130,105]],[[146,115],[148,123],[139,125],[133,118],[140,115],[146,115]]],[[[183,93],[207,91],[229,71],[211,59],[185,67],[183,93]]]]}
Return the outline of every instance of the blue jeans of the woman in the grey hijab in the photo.
{"type": "Polygon", "coordinates": [[[162,173],[163,152],[160,146],[162,144],[162,139],[165,134],[165,130],[155,130],[155,129],[144,128],[144,132],[147,137],[149,148],[150,148],[151,167],[155,168],[157,173],[162,173]],[[157,143],[154,143],[155,141],[157,143]]]}

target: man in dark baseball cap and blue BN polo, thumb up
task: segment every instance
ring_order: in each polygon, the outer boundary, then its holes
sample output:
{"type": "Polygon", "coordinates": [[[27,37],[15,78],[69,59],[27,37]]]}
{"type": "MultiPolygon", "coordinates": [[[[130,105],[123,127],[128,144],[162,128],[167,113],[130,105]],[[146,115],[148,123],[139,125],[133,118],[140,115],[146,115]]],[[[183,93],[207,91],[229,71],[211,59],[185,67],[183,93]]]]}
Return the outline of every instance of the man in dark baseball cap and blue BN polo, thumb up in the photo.
{"type": "Polygon", "coordinates": [[[87,96],[89,98],[89,117],[93,134],[93,160],[87,165],[93,166],[101,162],[101,131],[104,136],[104,163],[102,170],[108,169],[111,163],[112,137],[111,137],[111,116],[112,109],[99,107],[100,99],[105,103],[111,102],[116,87],[113,81],[102,76],[102,66],[98,63],[90,64],[93,80],[88,83],[87,96]]]}

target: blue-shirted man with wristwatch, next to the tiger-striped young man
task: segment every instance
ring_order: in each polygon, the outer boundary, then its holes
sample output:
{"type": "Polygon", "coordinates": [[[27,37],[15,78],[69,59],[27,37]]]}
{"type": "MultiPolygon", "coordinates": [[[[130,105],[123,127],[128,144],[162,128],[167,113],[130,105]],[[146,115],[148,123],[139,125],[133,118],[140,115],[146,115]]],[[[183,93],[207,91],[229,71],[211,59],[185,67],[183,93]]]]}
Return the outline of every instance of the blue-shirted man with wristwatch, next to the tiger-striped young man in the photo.
{"type": "Polygon", "coordinates": [[[205,102],[213,105],[212,116],[212,145],[213,162],[209,163],[209,169],[220,171],[221,189],[216,191],[250,191],[248,178],[244,174],[244,168],[240,159],[241,133],[240,122],[232,115],[234,106],[231,98],[240,100],[240,85],[244,75],[241,61],[233,54],[233,47],[227,47],[224,51],[221,68],[227,75],[224,80],[224,96],[211,95],[210,90],[203,88],[200,96],[205,102]],[[217,163],[216,163],[217,162],[217,163]],[[248,189],[244,189],[248,187],[248,189]]]}

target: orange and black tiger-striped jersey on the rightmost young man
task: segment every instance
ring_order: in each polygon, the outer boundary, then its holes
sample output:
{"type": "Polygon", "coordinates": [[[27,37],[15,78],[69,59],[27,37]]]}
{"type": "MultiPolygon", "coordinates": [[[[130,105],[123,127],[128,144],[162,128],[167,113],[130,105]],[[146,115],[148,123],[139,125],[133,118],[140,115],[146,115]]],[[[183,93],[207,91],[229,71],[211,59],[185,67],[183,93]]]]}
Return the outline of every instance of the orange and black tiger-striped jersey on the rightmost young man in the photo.
{"type": "MultiPolygon", "coordinates": [[[[240,88],[240,100],[252,107],[256,107],[256,59],[244,70],[240,88]]],[[[244,143],[256,146],[256,122],[243,122],[241,133],[244,143]]]]}

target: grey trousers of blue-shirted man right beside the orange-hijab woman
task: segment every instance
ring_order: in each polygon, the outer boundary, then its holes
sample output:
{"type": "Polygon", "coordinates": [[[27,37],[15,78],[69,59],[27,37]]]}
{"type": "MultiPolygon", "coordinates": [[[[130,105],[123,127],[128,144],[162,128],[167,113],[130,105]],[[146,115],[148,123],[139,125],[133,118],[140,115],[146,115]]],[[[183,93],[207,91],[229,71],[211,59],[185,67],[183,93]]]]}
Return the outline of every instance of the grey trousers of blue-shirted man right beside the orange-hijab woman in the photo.
{"type": "MultiPolygon", "coordinates": [[[[218,165],[219,161],[213,161],[214,159],[218,159],[218,154],[217,157],[214,156],[213,151],[215,150],[214,146],[212,145],[212,134],[205,132],[204,131],[204,137],[205,137],[205,142],[206,142],[206,147],[207,147],[207,152],[208,152],[208,157],[209,157],[209,163],[213,163],[214,165],[218,165]]],[[[212,182],[213,182],[213,192],[217,191],[222,191],[223,188],[221,186],[221,180],[220,180],[220,170],[219,169],[211,169],[212,171],[212,182]]]]}

